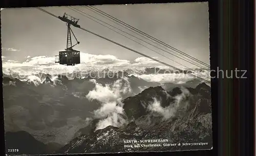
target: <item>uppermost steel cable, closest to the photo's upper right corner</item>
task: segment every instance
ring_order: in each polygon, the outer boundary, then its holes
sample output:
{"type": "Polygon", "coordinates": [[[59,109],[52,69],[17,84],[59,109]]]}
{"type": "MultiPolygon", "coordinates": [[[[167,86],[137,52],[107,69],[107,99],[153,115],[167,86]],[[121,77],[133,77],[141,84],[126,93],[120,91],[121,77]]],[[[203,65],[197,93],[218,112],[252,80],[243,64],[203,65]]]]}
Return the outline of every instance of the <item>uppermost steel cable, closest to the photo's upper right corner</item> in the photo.
{"type": "MultiPolygon", "coordinates": [[[[178,52],[178,53],[180,53],[180,54],[182,54],[182,55],[184,55],[184,56],[186,56],[186,57],[188,57],[188,58],[190,58],[190,59],[193,59],[193,60],[196,61],[196,62],[199,62],[199,63],[201,63],[201,64],[204,64],[205,66],[207,66],[208,68],[210,68],[210,66],[209,66],[207,63],[202,62],[202,61],[200,61],[200,60],[198,60],[198,59],[196,59],[196,58],[194,58],[194,57],[192,57],[192,56],[189,56],[188,54],[186,54],[186,53],[184,53],[184,52],[182,52],[182,51],[180,51],[180,50],[178,50],[178,49],[176,49],[176,48],[174,48],[174,47],[172,47],[172,46],[169,46],[167,43],[164,43],[163,41],[160,41],[160,40],[156,39],[155,37],[152,37],[151,35],[148,35],[148,34],[142,32],[142,31],[140,31],[140,30],[134,28],[133,26],[130,26],[129,24],[124,23],[123,21],[117,19],[117,18],[114,17],[114,16],[111,16],[111,15],[108,14],[108,13],[105,13],[105,12],[103,12],[103,11],[97,9],[97,8],[92,7],[92,6],[84,6],[84,7],[86,7],[87,9],[90,8],[89,10],[93,9],[94,11],[91,10],[91,11],[93,11],[93,12],[96,11],[96,12],[98,12],[99,14],[104,14],[105,16],[107,16],[107,17],[109,17],[109,18],[115,20],[117,23],[120,23],[120,24],[122,24],[122,25],[124,25],[124,26],[126,26],[126,27],[128,27],[128,28],[130,28],[130,29],[132,29],[132,30],[134,30],[134,31],[136,31],[136,32],[138,32],[138,33],[144,35],[144,36],[147,36],[147,37],[153,39],[154,41],[156,41],[156,42],[162,44],[163,46],[166,46],[166,47],[168,47],[168,48],[170,48],[170,49],[172,49],[172,50],[174,50],[174,51],[176,51],[176,52],[178,52]]],[[[113,22],[114,22],[114,21],[113,21],[113,22]]],[[[127,29],[127,28],[126,28],[126,29],[127,29]]],[[[144,38],[145,38],[145,37],[144,37],[144,38]]],[[[155,43],[155,42],[154,42],[154,43],[155,43]]],[[[158,46],[160,46],[160,45],[158,44],[158,46]]]]}

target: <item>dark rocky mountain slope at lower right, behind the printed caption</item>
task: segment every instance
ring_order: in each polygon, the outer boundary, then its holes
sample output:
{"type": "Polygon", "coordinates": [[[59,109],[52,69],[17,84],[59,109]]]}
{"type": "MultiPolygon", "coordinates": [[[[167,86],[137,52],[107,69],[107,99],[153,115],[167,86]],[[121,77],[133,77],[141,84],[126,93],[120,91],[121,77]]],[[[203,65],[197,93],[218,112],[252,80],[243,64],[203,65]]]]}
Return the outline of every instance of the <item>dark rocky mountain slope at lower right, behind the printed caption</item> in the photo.
{"type": "Polygon", "coordinates": [[[129,124],[119,128],[108,126],[96,131],[93,131],[91,127],[91,130],[83,131],[84,133],[80,133],[81,136],[72,140],[58,152],[169,151],[212,147],[210,87],[205,83],[199,84],[196,88],[174,88],[172,92],[166,92],[160,86],[150,87],[122,102],[125,115],[130,119],[129,124]],[[177,99],[181,100],[178,106],[177,99]],[[158,108],[165,112],[149,110],[148,107],[154,101],[161,101],[158,108]],[[187,105],[181,103],[187,103],[187,105]],[[168,110],[173,112],[168,112],[168,110]],[[166,117],[163,112],[173,115],[166,117]],[[135,147],[134,144],[130,144],[131,147],[124,147],[125,140],[139,142],[148,139],[168,139],[167,143],[177,143],[177,145],[164,146],[163,143],[159,143],[159,146],[142,147],[140,143],[140,147],[135,147]],[[179,146],[178,143],[181,145],[179,146]],[[190,145],[190,143],[194,144],[190,145]]]}

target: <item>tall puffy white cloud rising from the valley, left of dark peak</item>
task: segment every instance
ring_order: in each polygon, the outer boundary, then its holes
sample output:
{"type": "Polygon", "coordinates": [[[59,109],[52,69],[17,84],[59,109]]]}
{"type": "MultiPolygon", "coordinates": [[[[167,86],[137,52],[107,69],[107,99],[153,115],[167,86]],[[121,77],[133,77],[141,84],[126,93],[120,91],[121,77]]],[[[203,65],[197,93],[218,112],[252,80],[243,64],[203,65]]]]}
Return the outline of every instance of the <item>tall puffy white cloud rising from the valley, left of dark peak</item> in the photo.
{"type": "Polygon", "coordinates": [[[130,82],[127,79],[124,81],[117,80],[113,84],[106,84],[105,86],[95,83],[94,90],[87,95],[89,100],[98,100],[101,102],[101,107],[94,111],[95,118],[101,119],[96,129],[103,129],[109,125],[120,127],[126,123],[123,118],[122,108],[122,94],[132,93],[130,82]]]}

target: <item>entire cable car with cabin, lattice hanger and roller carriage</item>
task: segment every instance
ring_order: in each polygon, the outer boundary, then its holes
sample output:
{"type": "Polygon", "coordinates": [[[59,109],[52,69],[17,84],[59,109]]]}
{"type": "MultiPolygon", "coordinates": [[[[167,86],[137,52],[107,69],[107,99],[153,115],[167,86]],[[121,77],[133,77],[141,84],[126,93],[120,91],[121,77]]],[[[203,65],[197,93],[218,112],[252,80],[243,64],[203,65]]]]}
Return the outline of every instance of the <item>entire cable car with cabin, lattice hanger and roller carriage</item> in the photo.
{"type": "Polygon", "coordinates": [[[74,35],[70,26],[78,27],[77,22],[79,19],[72,17],[68,14],[64,14],[62,17],[58,16],[59,19],[65,21],[68,26],[68,37],[67,37],[67,49],[65,51],[60,51],[59,55],[55,55],[55,63],[63,64],[63,65],[75,65],[80,63],[80,51],[74,50],[73,47],[79,44],[80,42],[77,41],[76,36],[74,35]],[[71,40],[71,33],[75,37],[77,43],[72,46],[71,40]]]}

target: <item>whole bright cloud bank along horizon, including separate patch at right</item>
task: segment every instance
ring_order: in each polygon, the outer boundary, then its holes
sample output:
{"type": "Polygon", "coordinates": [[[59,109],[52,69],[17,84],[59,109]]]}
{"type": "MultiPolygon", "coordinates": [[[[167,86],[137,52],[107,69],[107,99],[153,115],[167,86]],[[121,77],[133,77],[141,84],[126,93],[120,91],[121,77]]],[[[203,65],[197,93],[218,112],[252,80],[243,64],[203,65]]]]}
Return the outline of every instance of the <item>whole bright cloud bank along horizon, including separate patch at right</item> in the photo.
{"type": "MultiPolygon", "coordinates": [[[[157,58],[157,57],[155,57],[157,58]]],[[[88,53],[80,53],[81,63],[74,66],[66,66],[55,63],[54,57],[49,56],[27,56],[27,60],[24,62],[19,62],[15,60],[7,60],[2,56],[3,60],[3,73],[10,75],[15,73],[17,75],[35,75],[39,73],[45,73],[50,75],[57,75],[63,73],[73,73],[73,72],[88,72],[88,71],[102,71],[104,69],[109,69],[111,71],[122,71],[127,69],[132,69],[136,71],[144,71],[145,68],[157,67],[160,69],[166,69],[166,66],[151,60],[146,57],[138,57],[133,61],[119,59],[113,55],[93,55],[88,53]]],[[[181,68],[180,68],[181,69],[181,68]]],[[[204,78],[209,75],[209,73],[201,73],[204,78]]],[[[136,77],[144,79],[148,82],[186,82],[188,80],[194,79],[189,75],[184,74],[151,74],[151,75],[136,75],[136,77]]],[[[200,76],[200,75],[198,75],[200,76]]],[[[201,77],[201,76],[200,76],[201,77]]]]}

